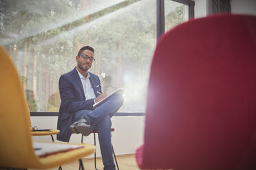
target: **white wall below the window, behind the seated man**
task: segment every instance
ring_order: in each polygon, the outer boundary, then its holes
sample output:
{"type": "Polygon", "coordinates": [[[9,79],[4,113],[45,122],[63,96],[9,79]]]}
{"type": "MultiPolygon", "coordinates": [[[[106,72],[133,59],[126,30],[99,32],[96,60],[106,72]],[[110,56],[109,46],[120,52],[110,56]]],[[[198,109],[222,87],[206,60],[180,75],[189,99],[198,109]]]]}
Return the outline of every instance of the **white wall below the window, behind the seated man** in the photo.
{"type": "MultiPolygon", "coordinates": [[[[32,126],[37,126],[40,129],[53,128],[56,129],[58,117],[31,117],[32,126]]],[[[134,154],[136,148],[143,143],[144,132],[144,116],[138,117],[112,117],[112,127],[116,130],[112,132],[112,143],[116,155],[134,154]]],[[[96,136],[96,154],[100,156],[100,148],[98,145],[98,136],[96,136]]],[[[33,136],[33,141],[52,141],[50,136],[33,136]]],[[[56,140],[56,135],[54,135],[56,140]]],[[[60,141],[58,141],[60,142],[60,141]]],[[[81,134],[72,134],[70,143],[81,143],[81,134]]],[[[94,144],[94,135],[90,134],[83,138],[83,143],[94,144]]],[[[92,157],[93,155],[89,156],[92,157]]]]}

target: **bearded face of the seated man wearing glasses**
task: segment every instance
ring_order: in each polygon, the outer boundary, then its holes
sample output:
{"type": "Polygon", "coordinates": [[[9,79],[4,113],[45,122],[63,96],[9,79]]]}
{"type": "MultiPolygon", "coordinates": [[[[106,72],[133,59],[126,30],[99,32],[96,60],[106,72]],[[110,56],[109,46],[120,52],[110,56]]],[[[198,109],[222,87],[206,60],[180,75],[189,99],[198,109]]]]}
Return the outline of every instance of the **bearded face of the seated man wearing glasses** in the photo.
{"type": "MultiPolygon", "coordinates": [[[[89,49],[85,49],[80,55],[87,55],[88,57],[94,57],[94,53],[90,51],[89,49]]],[[[88,71],[91,66],[92,62],[89,58],[85,60],[83,56],[76,56],[76,65],[83,71],[88,71]]]]}

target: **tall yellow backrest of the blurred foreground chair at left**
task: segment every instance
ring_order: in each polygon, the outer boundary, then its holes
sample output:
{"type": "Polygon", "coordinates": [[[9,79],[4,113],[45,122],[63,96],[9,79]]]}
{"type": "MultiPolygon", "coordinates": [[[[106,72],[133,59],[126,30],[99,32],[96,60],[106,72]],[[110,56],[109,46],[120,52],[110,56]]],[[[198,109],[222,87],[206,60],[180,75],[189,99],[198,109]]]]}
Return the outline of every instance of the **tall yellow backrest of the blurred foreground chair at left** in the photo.
{"type": "Polygon", "coordinates": [[[19,74],[6,51],[0,47],[0,167],[36,167],[32,147],[30,112],[19,74]]]}

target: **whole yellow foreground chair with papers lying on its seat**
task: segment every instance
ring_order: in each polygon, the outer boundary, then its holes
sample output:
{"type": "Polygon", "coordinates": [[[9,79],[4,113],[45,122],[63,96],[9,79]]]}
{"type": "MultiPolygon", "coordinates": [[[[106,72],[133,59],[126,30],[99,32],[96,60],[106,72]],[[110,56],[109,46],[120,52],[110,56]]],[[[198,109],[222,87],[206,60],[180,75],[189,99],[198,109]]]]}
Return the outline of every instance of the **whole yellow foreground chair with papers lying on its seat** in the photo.
{"type": "Polygon", "coordinates": [[[47,169],[80,160],[83,169],[81,158],[94,153],[93,145],[79,144],[83,147],[43,158],[36,156],[32,147],[30,112],[17,69],[1,47],[0,59],[0,167],[47,169]]]}

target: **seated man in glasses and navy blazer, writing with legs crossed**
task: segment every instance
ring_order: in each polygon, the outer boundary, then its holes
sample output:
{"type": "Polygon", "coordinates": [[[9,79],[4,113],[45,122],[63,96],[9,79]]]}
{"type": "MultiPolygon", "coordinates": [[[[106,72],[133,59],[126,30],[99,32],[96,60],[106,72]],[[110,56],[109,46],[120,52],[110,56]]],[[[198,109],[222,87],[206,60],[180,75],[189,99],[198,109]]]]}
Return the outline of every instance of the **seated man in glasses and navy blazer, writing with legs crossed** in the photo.
{"type": "Polygon", "coordinates": [[[122,106],[123,98],[114,95],[93,108],[93,104],[107,97],[107,93],[101,91],[98,76],[88,72],[94,60],[94,49],[82,47],[76,56],[76,67],[60,77],[61,106],[57,128],[61,132],[57,139],[68,142],[72,133],[88,136],[92,130],[98,130],[104,169],[116,169],[111,147],[111,117],[122,106]]]}

